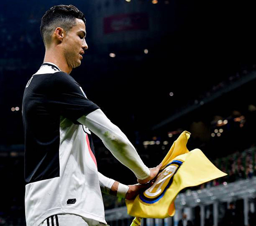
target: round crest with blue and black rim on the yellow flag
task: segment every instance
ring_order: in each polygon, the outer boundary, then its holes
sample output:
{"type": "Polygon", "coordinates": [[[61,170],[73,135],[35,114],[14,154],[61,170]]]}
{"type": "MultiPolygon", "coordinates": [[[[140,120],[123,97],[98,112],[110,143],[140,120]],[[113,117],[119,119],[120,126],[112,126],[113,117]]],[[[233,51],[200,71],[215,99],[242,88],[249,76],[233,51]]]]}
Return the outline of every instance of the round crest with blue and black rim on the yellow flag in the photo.
{"type": "Polygon", "coordinates": [[[154,204],[162,198],[172,184],[173,175],[177,172],[183,162],[184,161],[182,160],[175,159],[162,169],[157,175],[155,183],[144,193],[139,195],[139,200],[144,204],[154,204]]]}

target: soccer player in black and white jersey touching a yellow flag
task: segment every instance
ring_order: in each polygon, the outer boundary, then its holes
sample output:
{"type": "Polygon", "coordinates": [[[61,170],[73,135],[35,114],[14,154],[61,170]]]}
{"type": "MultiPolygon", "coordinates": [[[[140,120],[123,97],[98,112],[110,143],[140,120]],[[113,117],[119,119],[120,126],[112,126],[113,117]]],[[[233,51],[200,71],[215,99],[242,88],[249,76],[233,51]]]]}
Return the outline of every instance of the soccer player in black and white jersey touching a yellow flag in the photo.
{"type": "Polygon", "coordinates": [[[22,102],[27,225],[104,225],[101,191],[131,199],[141,186],[98,172],[90,131],[141,184],[152,180],[160,165],[148,169],[127,137],[69,76],[88,48],[83,13],[72,5],[50,8],[41,35],[44,62],[28,81],[22,102]]]}

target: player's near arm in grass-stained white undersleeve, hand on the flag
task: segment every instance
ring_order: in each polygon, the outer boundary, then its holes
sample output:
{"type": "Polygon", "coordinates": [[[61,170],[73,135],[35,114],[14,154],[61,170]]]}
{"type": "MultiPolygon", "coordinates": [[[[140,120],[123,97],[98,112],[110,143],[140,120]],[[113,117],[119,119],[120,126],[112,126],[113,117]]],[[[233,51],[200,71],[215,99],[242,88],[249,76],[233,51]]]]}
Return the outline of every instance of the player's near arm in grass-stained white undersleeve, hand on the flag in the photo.
{"type": "Polygon", "coordinates": [[[102,110],[97,109],[77,120],[86,125],[90,131],[102,140],[103,144],[123,165],[131,169],[136,175],[139,183],[147,183],[158,173],[160,165],[148,169],[139,157],[132,143],[124,133],[114,125],[102,110]]]}

